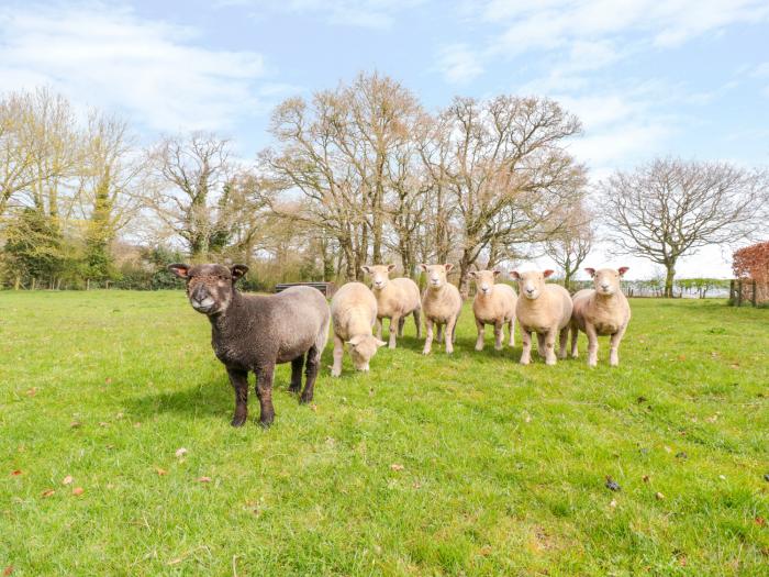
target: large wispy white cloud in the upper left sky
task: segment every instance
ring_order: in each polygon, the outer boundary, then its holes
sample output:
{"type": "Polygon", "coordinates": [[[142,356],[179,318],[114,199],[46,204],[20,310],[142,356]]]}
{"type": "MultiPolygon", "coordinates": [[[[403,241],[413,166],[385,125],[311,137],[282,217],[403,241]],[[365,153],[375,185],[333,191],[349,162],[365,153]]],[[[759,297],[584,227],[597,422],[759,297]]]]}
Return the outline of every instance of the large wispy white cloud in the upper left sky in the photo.
{"type": "Polygon", "coordinates": [[[101,3],[0,9],[2,89],[47,85],[151,130],[226,130],[264,112],[255,52],[196,44],[193,29],[101,3]]]}

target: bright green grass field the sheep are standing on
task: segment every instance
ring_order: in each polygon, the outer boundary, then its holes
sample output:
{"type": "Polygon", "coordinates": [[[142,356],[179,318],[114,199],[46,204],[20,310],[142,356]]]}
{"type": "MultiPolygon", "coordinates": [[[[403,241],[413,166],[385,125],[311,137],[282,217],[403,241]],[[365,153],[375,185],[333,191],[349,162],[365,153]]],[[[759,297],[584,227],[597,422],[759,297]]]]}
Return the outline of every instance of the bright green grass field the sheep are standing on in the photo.
{"type": "Polygon", "coordinates": [[[0,293],[0,570],[769,574],[769,310],[632,306],[615,369],[409,321],[261,431],[182,292],[0,293]]]}

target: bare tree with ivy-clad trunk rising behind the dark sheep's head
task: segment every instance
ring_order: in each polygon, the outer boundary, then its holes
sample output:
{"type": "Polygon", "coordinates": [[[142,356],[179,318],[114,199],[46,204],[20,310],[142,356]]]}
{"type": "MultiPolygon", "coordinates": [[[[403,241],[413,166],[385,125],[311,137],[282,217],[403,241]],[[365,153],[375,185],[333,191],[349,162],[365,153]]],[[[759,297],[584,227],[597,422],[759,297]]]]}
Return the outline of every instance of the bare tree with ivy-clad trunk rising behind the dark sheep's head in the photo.
{"type": "Polygon", "coordinates": [[[148,207],[185,240],[193,260],[221,251],[233,214],[229,142],[203,132],[166,137],[149,160],[158,181],[145,197],[148,207]]]}

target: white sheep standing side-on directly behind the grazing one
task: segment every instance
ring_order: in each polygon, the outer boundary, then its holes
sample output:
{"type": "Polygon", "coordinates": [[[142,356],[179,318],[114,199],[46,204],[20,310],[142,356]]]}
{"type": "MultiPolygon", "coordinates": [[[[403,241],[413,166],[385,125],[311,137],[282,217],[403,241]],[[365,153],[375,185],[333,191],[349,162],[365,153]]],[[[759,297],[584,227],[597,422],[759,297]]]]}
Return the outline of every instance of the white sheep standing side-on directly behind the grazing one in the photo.
{"type": "Polygon", "coordinates": [[[371,276],[371,290],[377,298],[377,339],[382,337],[382,319],[390,319],[390,348],[395,348],[395,331],[398,336],[403,336],[403,325],[409,314],[414,315],[416,324],[416,337],[422,337],[422,324],[420,314],[422,302],[420,288],[410,278],[390,278],[390,273],[395,265],[367,265],[360,267],[364,273],[371,276]]]}

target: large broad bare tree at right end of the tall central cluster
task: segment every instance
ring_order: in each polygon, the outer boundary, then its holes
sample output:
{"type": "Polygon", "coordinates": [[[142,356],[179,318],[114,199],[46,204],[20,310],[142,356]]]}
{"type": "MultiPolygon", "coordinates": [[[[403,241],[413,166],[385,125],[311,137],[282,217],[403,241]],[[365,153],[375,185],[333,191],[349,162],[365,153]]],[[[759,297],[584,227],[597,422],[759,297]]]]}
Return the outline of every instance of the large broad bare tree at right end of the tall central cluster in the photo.
{"type": "Polygon", "coordinates": [[[580,131],[576,116],[547,99],[457,98],[443,113],[452,154],[445,178],[460,237],[459,288],[490,243],[509,248],[544,240],[554,217],[584,180],[562,148],[580,131]]]}

